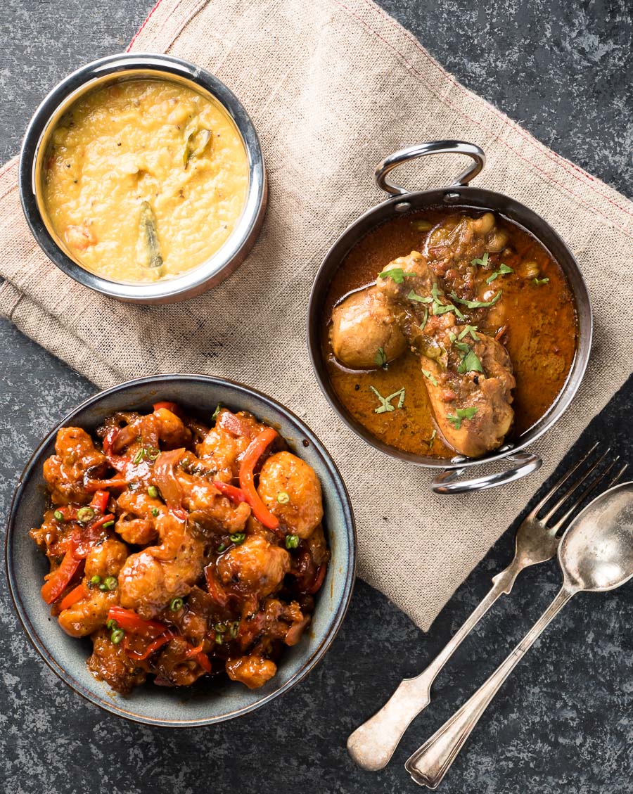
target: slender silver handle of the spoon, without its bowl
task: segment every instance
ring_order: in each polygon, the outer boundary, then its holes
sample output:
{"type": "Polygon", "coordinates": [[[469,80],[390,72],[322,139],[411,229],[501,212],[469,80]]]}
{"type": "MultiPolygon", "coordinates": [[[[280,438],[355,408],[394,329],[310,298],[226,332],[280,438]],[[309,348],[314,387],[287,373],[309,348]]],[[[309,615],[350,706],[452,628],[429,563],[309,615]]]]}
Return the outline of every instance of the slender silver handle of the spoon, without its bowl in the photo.
{"type": "Polygon", "coordinates": [[[438,787],[501,684],[575,592],[577,590],[563,584],[554,601],[485,684],[408,758],[404,766],[415,783],[428,788],[438,787]]]}

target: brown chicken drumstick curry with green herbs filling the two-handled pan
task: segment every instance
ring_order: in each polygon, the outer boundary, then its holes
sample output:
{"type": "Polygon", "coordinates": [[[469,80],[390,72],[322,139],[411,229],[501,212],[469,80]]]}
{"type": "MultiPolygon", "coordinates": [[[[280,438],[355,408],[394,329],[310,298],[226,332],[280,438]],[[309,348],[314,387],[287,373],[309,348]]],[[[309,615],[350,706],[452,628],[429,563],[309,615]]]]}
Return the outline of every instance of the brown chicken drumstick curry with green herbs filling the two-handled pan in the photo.
{"type": "Polygon", "coordinates": [[[350,414],[384,444],[481,457],[565,384],[577,343],[562,268],[525,229],[475,210],[381,225],[346,256],[322,346],[350,414]]]}

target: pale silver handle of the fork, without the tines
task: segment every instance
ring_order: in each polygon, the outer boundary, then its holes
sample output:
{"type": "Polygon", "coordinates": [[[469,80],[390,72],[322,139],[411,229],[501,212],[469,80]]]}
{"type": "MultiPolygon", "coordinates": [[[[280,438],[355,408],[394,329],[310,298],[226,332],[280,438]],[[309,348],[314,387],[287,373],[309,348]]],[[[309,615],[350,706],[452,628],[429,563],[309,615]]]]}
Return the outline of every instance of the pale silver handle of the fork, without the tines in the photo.
{"type": "Polygon", "coordinates": [[[507,569],[498,573],[481,603],[427,669],[415,678],[405,678],[380,711],[349,735],[347,751],[357,765],[376,772],[388,764],[404,731],[430,703],[430,687],[440,670],[500,595],[511,591],[520,570],[516,561],[512,561],[507,569]]]}

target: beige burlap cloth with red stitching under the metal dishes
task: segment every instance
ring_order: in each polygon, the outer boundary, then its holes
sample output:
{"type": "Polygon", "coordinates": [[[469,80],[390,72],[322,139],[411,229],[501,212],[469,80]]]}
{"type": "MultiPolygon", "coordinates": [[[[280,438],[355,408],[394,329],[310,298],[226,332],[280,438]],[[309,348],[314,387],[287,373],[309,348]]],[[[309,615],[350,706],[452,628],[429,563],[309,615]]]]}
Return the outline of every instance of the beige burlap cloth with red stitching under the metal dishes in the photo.
{"type": "MultiPolygon", "coordinates": [[[[133,40],[214,72],[261,136],[270,180],[264,230],[220,287],[174,306],[128,306],[68,279],[27,229],[15,160],[0,172],[0,310],[98,384],[159,372],[204,372],[251,384],[316,431],[353,499],[360,575],[426,629],[631,366],[633,205],[466,91],[369,0],[162,0],[133,40]],[[434,496],[430,472],[359,441],[330,410],[308,360],[307,299],[322,256],[381,195],[373,168],[418,141],[484,148],[477,185],[541,214],[589,283],[596,341],[584,384],[535,445],[538,475],[477,496],[434,496]]],[[[427,158],[415,186],[457,174],[427,158]]]]}

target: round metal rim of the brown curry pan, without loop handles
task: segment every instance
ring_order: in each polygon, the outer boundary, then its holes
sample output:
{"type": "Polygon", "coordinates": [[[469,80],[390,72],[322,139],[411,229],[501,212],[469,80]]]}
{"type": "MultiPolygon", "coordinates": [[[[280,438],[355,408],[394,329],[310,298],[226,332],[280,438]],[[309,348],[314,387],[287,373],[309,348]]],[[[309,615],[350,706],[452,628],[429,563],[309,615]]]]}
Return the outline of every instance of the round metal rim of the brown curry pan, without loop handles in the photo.
{"type": "MultiPolygon", "coordinates": [[[[332,272],[337,268],[334,268],[332,272]]],[[[331,283],[331,279],[332,276],[330,275],[330,280],[327,283],[328,287],[331,283]]],[[[353,434],[361,438],[362,441],[365,441],[369,446],[372,446],[384,455],[388,455],[388,457],[395,458],[398,461],[412,464],[418,468],[451,470],[473,468],[482,464],[495,463],[510,458],[534,443],[562,418],[562,415],[569,408],[570,403],[572,403],[573,398],[576,396],[589,365],[593,339],[593,312],[591,295],[589,295],[585,276],[582,274],[576,257],[573,256],[573,252],[569,249],[569,246],[545,218],[542,218],[541,215],[535,212],[535,210],[531,210],[531,208],[523,204],[523,202],[519,202],[517,199],[511,198],[511,196],[504,193],[493,191],[486,187],[460,184],[430,187],[421,191],[411,190],[403,194],[388,195],[388,198],[369,207],[368,210],[365,210],[365,212],[357,216],[357,218],[354,218],[349,225],[345,226],[345,229],[338,234],[338,237],[334,239],[330,248],[327,249],[318,266],[318,270],[312,282],[310,298],[308,299],[306,326],[308,353],[318,385],[327,402],[330,403],[330,407],[332,407],[345,426],[347,426],[349,430],[352,430],[353,434]],[[480,206],[479,199],[481,197],[491,198],[491,205],[484,206],[483,199],[481,199],[482,203],[480,206]],[[504,443],[499,449],[493,450],[492,453],[478,458],[464,457],[458,453],[455,453],[455,456],[451,458],[426,457],[423,455],[415,455],[414,453],[403,452],[400,449],[396,449],[396,447],[392,447],[380,441],[379,438],[371,434],[369,430],[353,418],[353,415],[342,403],[342,400],[338,398],[338,395],[336,395],[334,391],[334,386],[330,383],[330,377],[326,372],[325,360],[322,355],[321,333],[318,329],[318,320],[321,316],[320,299],[324,293],[324,279],[326,279],[326,275],[330,273],[330,268],[328,268],[328,266],[332,256],[334,256],[334,252],[337,251],[338,247],[346,245],[345,251],[338,257],[337,268],[340,268],[347,253],[349,253],[358,241],[369,234],[373,229],[380,227],[384,222],[388,222],[388,219],[380,220],[377,216],[380,216],[382,212],[390,209],[393,209],[398,215],[407,215],[411,212],[423,209],[423,207],[416,206],[415,202],[425,200],[428,200],[429,206],[446,206],[446,210],[450,210],[451,208],[457,210],[465,209],[469,206],[476,210],[488,209],[491,212],[496,212],[510,218],[511,221],[518,225],[522,225],[523,228],[527,229],[527,231],[538,240],[540,245],[550,253],[554,261],[563,268],[565,278],[572,291],[576,308],[576,353],[565,378],[565,383],[556,399],[554,399],[554,403],[546,410],[545,414],[542,415],[538,422],[527,430],[514,444],[509,445],[504,443]],[[472,201],[473,204],[469,204],[469,201],[472,201]],[[495,201],[502,202],[507,209],[496,209],[492,206],[495,201]],[[399,206],[403,207],[403,209],[399,210],[399,206]],[[515,210],[518,210],[523,215],[521,220],[511,217],[511,212],[515,210]],[[375,220],[372,222],[374,218],[375,220]],[[541,224],[543,228],[546,229],[548,239],[545,239],[545,237],[530,229],[526,219],[529,222],[533,222],[535,225],[541,224]],[[361,231],[361,229],[364,230],[361,231]],[[565,265],[561,264],[558,261],[558,257],[551,253],[551,241],[554,241],[562,252],[564,252],[566,257],[565,265]],[[569,270],[573,274],[573,279],[575,279],[576,283],[572,283],[572,279],[566,271],[568,264],[569,270]]]]}

